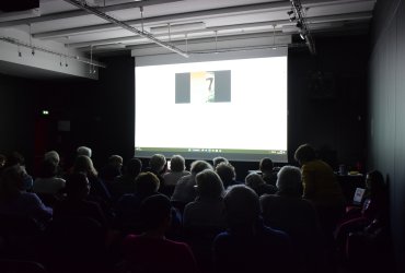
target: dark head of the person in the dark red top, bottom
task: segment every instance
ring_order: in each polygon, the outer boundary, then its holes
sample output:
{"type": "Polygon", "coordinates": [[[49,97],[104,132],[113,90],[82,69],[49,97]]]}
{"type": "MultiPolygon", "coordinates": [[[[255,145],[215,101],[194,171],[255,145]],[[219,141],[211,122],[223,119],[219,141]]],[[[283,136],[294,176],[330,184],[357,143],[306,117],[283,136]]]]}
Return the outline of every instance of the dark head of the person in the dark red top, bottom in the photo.
{"type": "Polygon", "coordinates": [[[144,199],[140,205],[140,218],[146,232],[164,232],[171,223],[171,203],[163,194],[154,194],[144,199]]]}

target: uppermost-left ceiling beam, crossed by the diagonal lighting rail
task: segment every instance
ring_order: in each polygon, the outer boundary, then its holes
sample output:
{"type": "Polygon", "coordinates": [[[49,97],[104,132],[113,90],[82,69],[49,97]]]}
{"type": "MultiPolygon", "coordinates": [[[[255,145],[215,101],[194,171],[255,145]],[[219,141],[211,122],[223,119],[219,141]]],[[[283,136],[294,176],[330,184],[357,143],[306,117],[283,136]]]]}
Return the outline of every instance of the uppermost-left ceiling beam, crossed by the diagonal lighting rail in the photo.
{"type": "MultiPolygon", "coordinates": [[[[172,3],[172,2],[178,2],[178,1],[183,1],[183,0],[137,1],[137,2],[128,2],[128,3],[100,7],[97,8],[97,10],[102,12],[113,12],[113,11],[135,9],[135,8],[148,7],[148,5],[154,5],[154,4],[172,3]]],[[[0,27],[9,27],[9,26],[14,26],[14,25],[26,25],[26,24],[33,24],[33,23],[43,23],[43,22],[49,22],[53,20],[70,19],[70,17],[78,17],[78,16],[84,16],[84,15],[89,15],[89,13],[83,10],[65,11],[65,12],[58,12],[58,13],[50,13],[50,14],[42,15],[38,17],[27,17],[27,19],[0,22],[0,27]]]]}

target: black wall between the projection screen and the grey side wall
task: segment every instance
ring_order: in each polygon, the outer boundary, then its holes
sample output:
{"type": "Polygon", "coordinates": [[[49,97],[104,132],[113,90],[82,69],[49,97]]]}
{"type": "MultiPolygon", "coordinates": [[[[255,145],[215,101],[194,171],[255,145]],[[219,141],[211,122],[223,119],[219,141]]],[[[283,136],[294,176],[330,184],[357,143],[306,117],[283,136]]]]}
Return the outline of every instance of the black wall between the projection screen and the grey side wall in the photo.
{"type": "Polygon", "coordinates": [[[316,37],[316,55],[290,49],[288,56],[288,146],[290,161],[302,143],[323,157],[363,168],[369,37],[316,37]]]}

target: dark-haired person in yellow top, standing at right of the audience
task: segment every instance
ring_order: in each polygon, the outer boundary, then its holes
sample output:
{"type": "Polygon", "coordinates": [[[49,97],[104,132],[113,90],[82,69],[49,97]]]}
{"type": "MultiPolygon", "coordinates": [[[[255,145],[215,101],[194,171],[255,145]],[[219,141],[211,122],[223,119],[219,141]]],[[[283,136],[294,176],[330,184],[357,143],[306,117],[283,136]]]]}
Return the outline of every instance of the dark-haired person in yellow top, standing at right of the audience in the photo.
{"type": "Polygon", "coordinates": [[[313,203],[325,235],[328,236],[345,213],[345,198],[340,185],[332,167],[316,158],[315,150],[311,145],[299,146],[294,158],[301,165],[302,198],[313,203]]]}

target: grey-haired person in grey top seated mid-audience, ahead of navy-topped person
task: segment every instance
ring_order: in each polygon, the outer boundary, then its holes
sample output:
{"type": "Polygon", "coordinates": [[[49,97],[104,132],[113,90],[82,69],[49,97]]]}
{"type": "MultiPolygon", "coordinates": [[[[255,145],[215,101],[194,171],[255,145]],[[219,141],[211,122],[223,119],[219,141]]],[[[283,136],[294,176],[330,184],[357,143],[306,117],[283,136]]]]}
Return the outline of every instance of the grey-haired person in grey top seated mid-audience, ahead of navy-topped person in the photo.
{"type": "Polygon", "coordinates": [[[197,198],[184,209],[183,226],[224,228],[224,190],[221,178],[213,170],[205,169],[196,176],[196,183],[197,198]]]}

